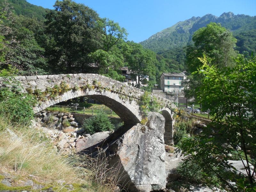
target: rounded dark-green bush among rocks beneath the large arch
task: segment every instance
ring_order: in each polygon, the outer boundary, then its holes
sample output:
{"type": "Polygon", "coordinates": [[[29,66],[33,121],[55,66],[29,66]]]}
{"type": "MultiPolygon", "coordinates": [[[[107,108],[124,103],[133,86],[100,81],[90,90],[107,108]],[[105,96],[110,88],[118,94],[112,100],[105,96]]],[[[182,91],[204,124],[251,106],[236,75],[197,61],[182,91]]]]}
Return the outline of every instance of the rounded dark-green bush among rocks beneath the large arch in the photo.
{"type": "Polygon", "coordinates": [[[85,119],[83,122],[84,132],[93,134],[95,132],[111,131],[114,125],[111,124],[107,114],[100,112],[96,116],[85,119]]]}

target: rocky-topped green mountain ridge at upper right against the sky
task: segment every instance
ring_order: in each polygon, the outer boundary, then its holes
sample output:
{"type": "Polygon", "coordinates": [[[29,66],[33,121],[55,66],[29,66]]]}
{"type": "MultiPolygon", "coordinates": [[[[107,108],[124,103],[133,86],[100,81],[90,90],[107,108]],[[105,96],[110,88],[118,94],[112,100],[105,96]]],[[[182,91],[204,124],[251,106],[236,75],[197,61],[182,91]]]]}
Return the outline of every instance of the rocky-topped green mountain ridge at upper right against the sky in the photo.
{"type": "Polygon", "coordinates": [[[180,21],[172,27],[166,28],[155,35],[152,35],[147,40],[140,42],[145,48],[155,52],[164,52],[177,47],[184,47],[191,42],[193,33],[201,27],[205,27],[210,22],[220,23],[221,26],[229,29],[238,39],[240,44],[237,50],[255,52],[256,48],[256,16],[249,15],[234,15],[232,12],[224,12],[220,17],[212,14],[204,15],[203,17],[192,17],[185,21],[180,21]],[[245,48],[244,42],[248,41],[247,37],[252,38],[249,45],[245,48]],[[245,38],[245,39],[244,39],[245,38]]]}

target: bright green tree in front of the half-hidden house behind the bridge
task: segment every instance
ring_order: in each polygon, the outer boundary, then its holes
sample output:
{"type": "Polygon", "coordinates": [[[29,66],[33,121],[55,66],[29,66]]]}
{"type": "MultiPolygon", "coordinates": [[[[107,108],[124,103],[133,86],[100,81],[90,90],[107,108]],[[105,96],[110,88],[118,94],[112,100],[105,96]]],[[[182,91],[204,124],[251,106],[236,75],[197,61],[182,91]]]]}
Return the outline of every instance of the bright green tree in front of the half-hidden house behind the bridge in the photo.
{"type": "Polygon", "coordinates": [[[151,81],[155,83],[153,76],[156,75],[154,65],[156,63],[156,53],[144,49],[142,45],[134,42],[127,42],[124,46],[124,52],[129,69],[132,70],[134,75],[138,76],[136,85],[140,87],[140,82],[144,76],[149,76],[152,78],[151,81]]]}

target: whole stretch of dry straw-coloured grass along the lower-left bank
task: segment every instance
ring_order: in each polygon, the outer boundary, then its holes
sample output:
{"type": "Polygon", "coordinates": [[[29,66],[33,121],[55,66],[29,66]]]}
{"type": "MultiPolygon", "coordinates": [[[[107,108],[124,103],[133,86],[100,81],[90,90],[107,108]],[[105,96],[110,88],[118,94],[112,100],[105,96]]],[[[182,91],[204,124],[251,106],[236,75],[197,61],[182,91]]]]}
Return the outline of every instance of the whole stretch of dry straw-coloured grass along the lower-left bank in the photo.
{"type": "Polygon", "coordinates": [[[44,185],[64,183],[57,185],[55,191],[74,183],[79,186],[78,191],[114,191],[120,171],[109,168],[107,158],[63,156],[44,133],[28,127],[12,127],[7,120],[0,116],[0,167],[1,172],[15,176],[14,182],[31,179],[32,175],[33,180],[44,185]]]}

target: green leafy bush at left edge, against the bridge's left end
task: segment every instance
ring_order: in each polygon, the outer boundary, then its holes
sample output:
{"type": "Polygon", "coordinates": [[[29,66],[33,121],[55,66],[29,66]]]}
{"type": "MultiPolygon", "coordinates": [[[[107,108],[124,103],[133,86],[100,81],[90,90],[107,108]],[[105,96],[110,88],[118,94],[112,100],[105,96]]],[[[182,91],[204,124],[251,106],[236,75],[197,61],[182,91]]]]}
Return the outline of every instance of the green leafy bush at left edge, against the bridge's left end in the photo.
{"type": "Polygon", "coordinates": [[[27,124],[33,118],[33,106],[36,99],[33,95],[12,91],[8,88],[0,90],[0,113],[5,114],[12,123],[27,124]]]}

